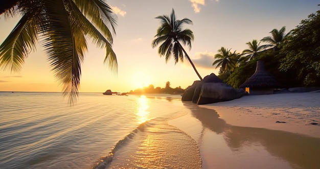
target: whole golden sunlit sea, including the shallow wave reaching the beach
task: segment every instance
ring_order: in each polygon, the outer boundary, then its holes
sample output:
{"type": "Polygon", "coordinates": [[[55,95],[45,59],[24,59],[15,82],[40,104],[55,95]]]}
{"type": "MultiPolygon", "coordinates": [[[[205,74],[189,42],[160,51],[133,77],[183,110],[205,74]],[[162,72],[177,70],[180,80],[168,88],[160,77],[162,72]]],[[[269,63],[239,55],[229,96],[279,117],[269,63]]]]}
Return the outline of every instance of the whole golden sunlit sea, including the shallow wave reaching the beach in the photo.
{"type": "Polygon", "coordinates": [[[179,95],[0,92],[0,168],[200,168],[179,95]],[[179,159],[179,160],[177,160],[179,159]],[[111,163],[112,161],[112,163],[111,163]]]}

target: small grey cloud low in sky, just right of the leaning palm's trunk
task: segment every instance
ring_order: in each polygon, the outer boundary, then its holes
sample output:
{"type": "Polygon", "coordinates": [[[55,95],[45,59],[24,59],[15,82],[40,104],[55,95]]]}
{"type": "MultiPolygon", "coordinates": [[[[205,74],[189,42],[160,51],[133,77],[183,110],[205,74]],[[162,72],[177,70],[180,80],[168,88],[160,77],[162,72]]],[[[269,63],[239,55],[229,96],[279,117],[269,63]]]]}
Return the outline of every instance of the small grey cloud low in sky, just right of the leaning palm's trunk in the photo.
{"type": "Polygon", "coordinates": [[[212,52],[197,52],[196,59],[191,59],[196,67],[202,67],[206,69],[214,69],[212,63],[215,61],[214,53],[212,52]]]}

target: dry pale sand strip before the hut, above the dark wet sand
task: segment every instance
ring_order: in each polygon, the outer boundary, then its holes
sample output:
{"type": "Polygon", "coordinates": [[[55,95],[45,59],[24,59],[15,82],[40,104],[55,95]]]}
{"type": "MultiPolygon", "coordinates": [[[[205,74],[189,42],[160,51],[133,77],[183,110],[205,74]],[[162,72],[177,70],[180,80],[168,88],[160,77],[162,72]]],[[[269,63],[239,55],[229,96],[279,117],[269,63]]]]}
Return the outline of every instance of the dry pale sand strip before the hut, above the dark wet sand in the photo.
{"type": "Polygon", "coordinates": [[[320,93],[246,95],[199,107],[215,110],[232,126],[286,131],[320,138],[320,93]]]}

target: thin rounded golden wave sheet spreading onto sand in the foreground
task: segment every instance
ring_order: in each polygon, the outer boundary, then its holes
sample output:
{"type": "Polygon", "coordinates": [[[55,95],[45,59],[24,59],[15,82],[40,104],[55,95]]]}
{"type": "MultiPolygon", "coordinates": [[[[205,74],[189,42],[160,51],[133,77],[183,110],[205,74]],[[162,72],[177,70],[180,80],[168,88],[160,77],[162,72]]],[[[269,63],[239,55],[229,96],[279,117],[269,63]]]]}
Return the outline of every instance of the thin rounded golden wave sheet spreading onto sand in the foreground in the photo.
{"type": "Polygon", "coordinates": [[[201,168],[196,141],[184,131],[153,118],[119,140],[92,169],[104,168],[201,168]]]}

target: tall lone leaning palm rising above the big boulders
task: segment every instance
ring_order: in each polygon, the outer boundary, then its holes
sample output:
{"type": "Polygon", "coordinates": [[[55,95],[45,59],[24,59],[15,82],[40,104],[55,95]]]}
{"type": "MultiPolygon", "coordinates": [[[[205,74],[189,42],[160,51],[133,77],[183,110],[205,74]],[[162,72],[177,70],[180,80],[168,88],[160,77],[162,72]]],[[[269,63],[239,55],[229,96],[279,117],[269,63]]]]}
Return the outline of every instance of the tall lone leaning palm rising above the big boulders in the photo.
{"type": "Polygon", "coordinates": [[[199,79],[202,80],[196,67],[181,45],[181,43],[184,45],[188,45],[189,50],[191,49],[191,41],[194,39],[193,32],[189,29],[183,30],[182,26],[184,25],[184,23],[192,24],[192,21],[188,18],[176,20],[173,9],[170,17],[167,15],[163,15],[156,17],[156,19],[161,20],[161,26],[159,26],[159,28],[157,29],[157,34],[154,36],[156,38],[152,41],[152,48],[162,43],[158,47],[158,53],[160,54],[160,56],[166,57],[166,62],[173,55],[175,64],[179,61],[179,59],[181,62],[183,62],[185,54],[199,79]]]}

